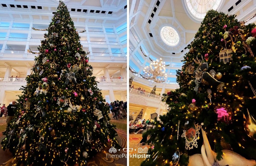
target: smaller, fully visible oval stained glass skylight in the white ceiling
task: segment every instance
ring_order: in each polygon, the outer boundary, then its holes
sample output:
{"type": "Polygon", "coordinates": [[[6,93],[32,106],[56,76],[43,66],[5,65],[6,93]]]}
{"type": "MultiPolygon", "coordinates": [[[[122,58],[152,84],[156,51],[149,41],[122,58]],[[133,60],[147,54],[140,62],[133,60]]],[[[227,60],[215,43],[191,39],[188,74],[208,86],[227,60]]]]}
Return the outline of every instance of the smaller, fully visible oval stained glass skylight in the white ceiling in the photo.
{"type": "Polygon", "coordinates": [[[176,46],[179,43],[179,34],[172,27],[164,26],[160,31],[160,35],[162,40],[169,46],[176,46]]]}

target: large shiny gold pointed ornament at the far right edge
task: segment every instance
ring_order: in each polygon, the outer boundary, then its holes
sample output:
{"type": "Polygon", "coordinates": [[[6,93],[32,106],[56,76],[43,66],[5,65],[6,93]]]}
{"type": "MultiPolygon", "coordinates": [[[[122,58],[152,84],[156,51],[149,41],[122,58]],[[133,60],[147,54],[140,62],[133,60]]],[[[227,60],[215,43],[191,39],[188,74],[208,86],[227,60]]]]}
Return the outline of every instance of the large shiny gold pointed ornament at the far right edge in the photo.
{"type": "Polygon", "coordinates": [[[255,140],[253,135],[256,133],[256,120],[250,115],[247,109],[247,116],[244,115],[246,119],[244,123],[244,130],[247,132],[247,135],[255,140]]]}

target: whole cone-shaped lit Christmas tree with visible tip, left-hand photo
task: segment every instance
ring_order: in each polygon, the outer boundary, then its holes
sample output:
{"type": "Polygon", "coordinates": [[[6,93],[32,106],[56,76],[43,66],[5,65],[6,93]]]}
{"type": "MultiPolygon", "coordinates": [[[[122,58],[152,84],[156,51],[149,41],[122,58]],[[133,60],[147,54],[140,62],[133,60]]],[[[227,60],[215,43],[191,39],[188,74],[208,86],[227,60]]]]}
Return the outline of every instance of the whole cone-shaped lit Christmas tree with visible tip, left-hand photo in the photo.
{"type": "Polygon", "coordinates": [[[86,165],[116,132],[62,1],[47,30],[2,145],[17,165],[86,165]]]}

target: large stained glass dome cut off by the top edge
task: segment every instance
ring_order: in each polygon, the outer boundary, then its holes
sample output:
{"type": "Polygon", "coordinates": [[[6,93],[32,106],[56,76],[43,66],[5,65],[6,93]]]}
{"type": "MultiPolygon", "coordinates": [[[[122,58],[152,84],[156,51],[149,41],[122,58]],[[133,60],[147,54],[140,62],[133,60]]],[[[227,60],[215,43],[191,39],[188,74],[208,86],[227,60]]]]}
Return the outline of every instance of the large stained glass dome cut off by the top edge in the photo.
{"type": "Polygon", "coordinates": [[[210,9],[216,10],[222,0],[186,0],[188,10],[196,18],[202,19],[210,9]]]}

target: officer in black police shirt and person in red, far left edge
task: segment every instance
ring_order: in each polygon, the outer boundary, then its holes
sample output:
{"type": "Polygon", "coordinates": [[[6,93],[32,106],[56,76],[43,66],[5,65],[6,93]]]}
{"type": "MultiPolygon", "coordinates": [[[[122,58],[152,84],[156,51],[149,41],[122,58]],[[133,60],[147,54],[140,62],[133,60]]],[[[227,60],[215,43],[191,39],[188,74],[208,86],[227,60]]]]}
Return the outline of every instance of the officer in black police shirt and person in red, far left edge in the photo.
{"type": "MultiPolygon", "coordinates": [[[[0,104],[1,106],[1,104],[0,104]]],[[[1,107],[1,114],[0,114],[0,118],[3,117],[3,115],[6,118],[6,129],[8,126],[8,123],[14,119],[14,114],[17,110],[17,105],[16,105],[16,101],[12,101],[12,103],[10,103],[7,107],[5,107],[5,104],[3,104],[3,106],[1,107]]]]}

